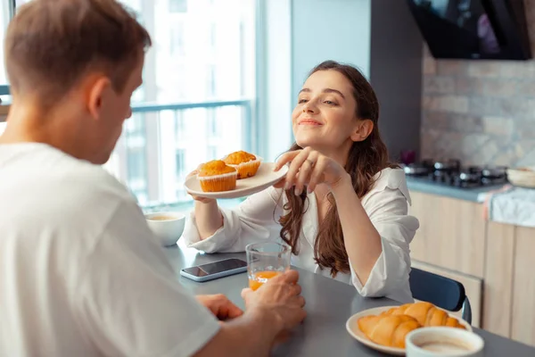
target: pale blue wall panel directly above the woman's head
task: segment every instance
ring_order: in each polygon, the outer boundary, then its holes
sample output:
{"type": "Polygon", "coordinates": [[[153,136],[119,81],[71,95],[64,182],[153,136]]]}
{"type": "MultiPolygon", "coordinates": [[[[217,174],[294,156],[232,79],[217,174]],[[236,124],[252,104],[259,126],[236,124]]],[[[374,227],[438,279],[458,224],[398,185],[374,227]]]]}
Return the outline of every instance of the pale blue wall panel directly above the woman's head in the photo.
{"type": "Polygon", "coordinates": [[[353,64],[369,78],[371,1],[292,0],[292,95],[325,60],[353,64]]]}

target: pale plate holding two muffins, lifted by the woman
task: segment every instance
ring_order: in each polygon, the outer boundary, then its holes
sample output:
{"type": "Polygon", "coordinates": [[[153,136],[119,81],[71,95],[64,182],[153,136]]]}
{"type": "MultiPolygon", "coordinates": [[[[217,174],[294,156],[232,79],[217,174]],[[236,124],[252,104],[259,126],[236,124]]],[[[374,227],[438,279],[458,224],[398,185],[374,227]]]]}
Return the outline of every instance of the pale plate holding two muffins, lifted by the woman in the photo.
{"type": "Polygon", "coordinates": [[[256,175],[249,179],[238,179],[236,188],[232,191],[222,192],[203,192],[201,184],[196,177],[185,180],[185,190],[190,195],[198,195],[208,198],[238,198],[246,195],[256,194],[270,186],[275,185],[280,179],[284,178],[288,167],[283,166],[281,170],[274,171],[275,162],[262,162],[256,175]]]}

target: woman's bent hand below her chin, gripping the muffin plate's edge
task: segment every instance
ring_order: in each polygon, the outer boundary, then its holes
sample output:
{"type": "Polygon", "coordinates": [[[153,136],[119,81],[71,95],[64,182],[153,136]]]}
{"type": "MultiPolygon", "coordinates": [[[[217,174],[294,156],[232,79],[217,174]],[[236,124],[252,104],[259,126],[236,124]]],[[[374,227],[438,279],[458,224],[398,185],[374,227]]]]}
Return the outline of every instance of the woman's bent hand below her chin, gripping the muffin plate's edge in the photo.
{"type": "MultiPolygon", "coordinates": [[[[351,182],[350,175],[340,163],[309,147],[283,154],[274,170],[280,170],[288,162],[290,166],[284,178],[284,189],[295,186],[295,195],[300,195],[305,186],[312,192],[319,184],[333,189],[344,180],[351,182]]],[[[282,187],[282,181],[276,186],[282,187]]]]}

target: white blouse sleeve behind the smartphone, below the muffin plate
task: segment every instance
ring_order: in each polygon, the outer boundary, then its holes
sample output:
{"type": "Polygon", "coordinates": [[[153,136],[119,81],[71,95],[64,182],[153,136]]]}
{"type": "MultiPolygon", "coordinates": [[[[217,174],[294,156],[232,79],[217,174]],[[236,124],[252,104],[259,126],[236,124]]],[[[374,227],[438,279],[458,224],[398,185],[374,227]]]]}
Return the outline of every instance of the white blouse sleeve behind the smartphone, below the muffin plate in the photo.
{"type": "Polygon", "coordinates": [[[246,245],[264,239],[278,239],[281,196],[282,189],[269,187],[247,197],[235,209],[219,208],[223,226],[205,239],[199,236],[195,214],[192,212],[185,223],[185,244],[206,253],[230,253],[243,252],[246,245]]]}

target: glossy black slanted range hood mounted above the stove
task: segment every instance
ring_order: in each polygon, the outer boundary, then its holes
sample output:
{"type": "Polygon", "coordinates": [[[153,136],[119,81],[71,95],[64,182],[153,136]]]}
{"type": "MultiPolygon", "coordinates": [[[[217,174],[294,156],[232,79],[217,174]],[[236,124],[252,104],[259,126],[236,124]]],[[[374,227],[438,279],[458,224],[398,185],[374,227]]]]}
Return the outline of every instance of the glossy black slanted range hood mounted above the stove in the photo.
{"type": "Polygon", "coordinates": [[[435,58],[528,60],[523,0],[407,0],[435,58]]]}

